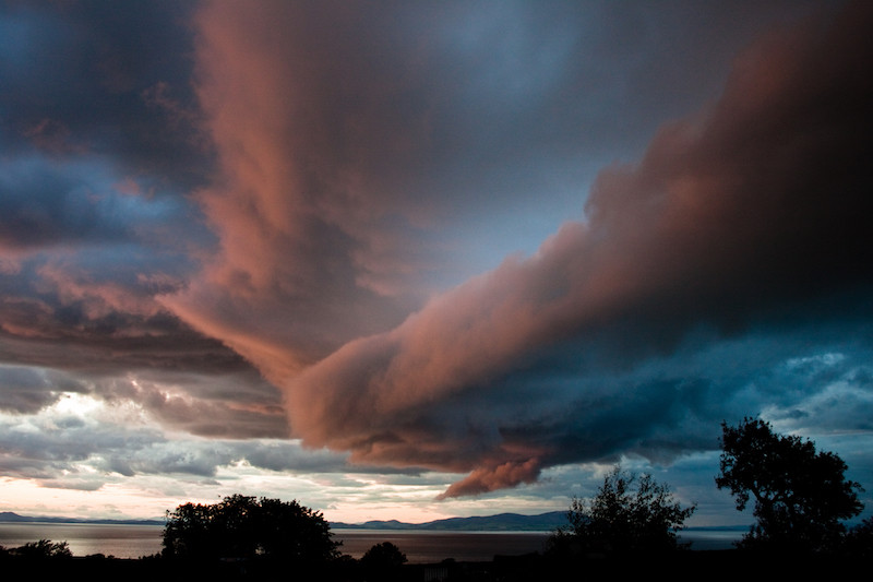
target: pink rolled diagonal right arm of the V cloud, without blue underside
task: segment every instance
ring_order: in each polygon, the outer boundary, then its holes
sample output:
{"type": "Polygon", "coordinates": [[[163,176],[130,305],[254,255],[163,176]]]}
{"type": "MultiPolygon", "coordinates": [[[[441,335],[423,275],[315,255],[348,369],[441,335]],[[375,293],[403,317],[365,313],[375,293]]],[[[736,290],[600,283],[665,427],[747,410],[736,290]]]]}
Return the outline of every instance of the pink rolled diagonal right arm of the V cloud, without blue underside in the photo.
{"type": "Polygon", "coordinates": [[[449,496],[529,482],[567,453],[510,436],[512,415],[482,438],[469,416],[488,413],[464,405],[543,352],[578,338],[595,347],[621,325],[637,335],[619,344],[669,349],[695,326],[732,333],[869,282],[870,22],[856,5],[830,27],[752,47],[714,106],[600,175],[585,222],[285,379],[294,430],[360,462],[471,471],[449,496]],[[428,411],[447,402],[430,426],[428,411]]]}

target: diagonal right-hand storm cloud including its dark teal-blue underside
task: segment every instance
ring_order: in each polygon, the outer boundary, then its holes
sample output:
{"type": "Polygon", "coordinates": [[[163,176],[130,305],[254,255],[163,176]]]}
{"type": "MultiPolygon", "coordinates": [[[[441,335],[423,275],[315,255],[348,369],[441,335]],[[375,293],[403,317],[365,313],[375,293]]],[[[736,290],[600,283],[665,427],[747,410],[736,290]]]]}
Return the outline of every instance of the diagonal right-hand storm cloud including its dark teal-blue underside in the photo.
{"type": "Polygon", "coordinates": [[[355,461],[471,470],[446,492],[469,495],[557,462],[713,448],[732,397],[784,390],[755,387],[742,342],[767,345],[770,367],[789,331],[805,351],[828,325],[865,347],[871,17],[853,4],[756,43],[717,103],[600,174],[586,222],[288,379],[294,429],[355,461]],[[666,373],[706,351],[737,370],[666,373]],[[561,354],[575,385],[555,390],[561,354]]]}

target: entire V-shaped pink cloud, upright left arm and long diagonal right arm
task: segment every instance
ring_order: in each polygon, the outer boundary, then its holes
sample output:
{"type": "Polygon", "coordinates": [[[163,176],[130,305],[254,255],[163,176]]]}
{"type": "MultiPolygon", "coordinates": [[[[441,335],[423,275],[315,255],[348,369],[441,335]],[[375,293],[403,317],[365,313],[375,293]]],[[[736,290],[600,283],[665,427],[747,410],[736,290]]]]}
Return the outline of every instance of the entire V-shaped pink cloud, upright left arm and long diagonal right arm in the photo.
{"type": "Polygon", "coordinates": [[[446,496],[528,483],[609,452],[588,427],[573,428],[577,451],[558,442],[565,394],[500,392],[550,352],[668,353],[701,326],[736,333],[870,282],[865,4],[755,44],[715,104],[599,175],[584,219],[414,312],[442,209],[399,168],[421,169],[429,111],[402,107],[415,59],[367,60],[355,47],[379,29],[334,8],[201,11],[199,92],[223,173],[198,200],[220,248],[163,298],[284,390],[304,443],[470,473],[446,496]]]}

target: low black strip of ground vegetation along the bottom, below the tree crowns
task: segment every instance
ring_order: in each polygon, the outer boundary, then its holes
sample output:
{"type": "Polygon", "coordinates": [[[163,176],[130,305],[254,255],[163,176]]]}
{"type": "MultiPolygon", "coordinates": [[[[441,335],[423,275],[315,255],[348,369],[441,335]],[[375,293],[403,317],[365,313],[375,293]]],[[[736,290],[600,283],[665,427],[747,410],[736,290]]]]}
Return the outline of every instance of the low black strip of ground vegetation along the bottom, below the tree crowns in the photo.
{"type": "Polygon", "coordinates": [[[659,575],[680,580],[743,577],[784,580],[788,577],[836,578],[869,567],[870,557],[782,556],[741,549],[680,550],[674,554],[614,554],[555,559],[545,554],[503,557],[486,562],[446,560],[433,565],[405,563],[387,570],[369,570],[351,558],[324,565],[301,566],[280,560],[252,562],[167,560],[160,557],[116,559],[99,556],[64,559],[0,558],[4,580],[49,580],[82,577],[92,581],[312,581],[312,582],[546,582],[597,580],[602,577],[659,575]]]}

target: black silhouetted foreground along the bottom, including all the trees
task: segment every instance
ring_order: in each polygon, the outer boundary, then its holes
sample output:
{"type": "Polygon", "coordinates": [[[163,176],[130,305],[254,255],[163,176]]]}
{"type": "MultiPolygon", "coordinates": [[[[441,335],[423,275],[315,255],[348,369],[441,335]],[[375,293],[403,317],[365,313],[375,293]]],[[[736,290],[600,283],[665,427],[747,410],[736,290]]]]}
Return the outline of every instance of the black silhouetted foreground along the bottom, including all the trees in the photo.
{"type": "Polygon", "coordinates": [[[71,555],[65,543],[39,541],[0,548],[7,580],[87,577],[124,582],[256,581],[549,581],[615,574],[680,579],[717,575],[765,580],[836,577],[873,559],[873,520],[847,528],[863,509],[859,484],[844,477],[835,454],[816,452],[764,421],[722,426],[719,488],[756,523],[729,550],[691,550],[677,533],[695,507],[682,507],[650,475],[615,467],[589,499],[574,499],[567,523],[541,553],[487,562],[409,565],[402,549],[376,544],[360,559],[342,553],[321,513],[277,499],[231,496],[167,512],[164,549],[136,560],[71,555]]]}

